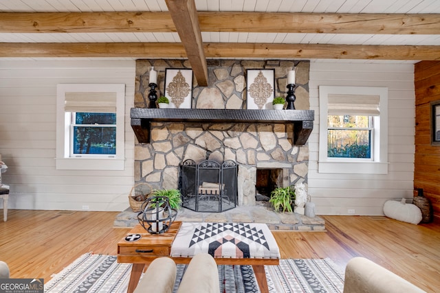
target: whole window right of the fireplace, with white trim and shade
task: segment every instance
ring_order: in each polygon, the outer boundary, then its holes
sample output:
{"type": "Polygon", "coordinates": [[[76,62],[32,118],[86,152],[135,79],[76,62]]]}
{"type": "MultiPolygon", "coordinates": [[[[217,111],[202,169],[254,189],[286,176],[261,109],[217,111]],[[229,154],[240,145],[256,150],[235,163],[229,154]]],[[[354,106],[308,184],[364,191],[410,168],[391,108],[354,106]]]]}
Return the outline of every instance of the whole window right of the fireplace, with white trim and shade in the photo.
{"type": "Polygon", "coordinates": [[[388,89],[320,86],[320,173],[388,173],[388,89]]]}

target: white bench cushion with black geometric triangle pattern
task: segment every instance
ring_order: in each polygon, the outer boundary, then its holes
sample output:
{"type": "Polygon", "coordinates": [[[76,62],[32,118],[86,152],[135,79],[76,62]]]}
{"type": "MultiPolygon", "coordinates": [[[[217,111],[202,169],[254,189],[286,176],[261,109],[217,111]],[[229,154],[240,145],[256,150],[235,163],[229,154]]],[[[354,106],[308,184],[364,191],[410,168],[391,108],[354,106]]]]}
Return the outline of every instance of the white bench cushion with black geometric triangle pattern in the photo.
{"type": "Polygon", "coordinates": [[[214,258],[280,259],[278,244],[266,224],[182,222],[170,257],[198,253],[214,258]]]}

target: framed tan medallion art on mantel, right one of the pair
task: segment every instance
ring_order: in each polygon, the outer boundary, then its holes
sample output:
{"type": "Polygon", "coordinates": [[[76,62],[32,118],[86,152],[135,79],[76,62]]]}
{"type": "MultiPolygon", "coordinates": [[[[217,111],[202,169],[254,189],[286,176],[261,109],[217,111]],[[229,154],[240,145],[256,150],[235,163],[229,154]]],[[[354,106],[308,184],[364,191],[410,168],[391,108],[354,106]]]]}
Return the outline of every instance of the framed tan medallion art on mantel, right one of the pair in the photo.
{"type": "Polygon", "coordinates": [[[248,69],[248,109],[273,109],[274,69],[248,69]]]}

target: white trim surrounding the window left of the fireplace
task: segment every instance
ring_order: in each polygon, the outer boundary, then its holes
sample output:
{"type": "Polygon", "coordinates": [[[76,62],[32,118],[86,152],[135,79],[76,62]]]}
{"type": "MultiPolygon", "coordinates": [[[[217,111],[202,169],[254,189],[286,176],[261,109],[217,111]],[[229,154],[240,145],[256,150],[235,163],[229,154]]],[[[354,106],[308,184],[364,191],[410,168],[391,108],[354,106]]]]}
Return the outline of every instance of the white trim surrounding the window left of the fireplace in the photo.
{"type": "Polygon", "coordinates": [[[125,84],[58,84],[56,87],[56,169],[124,170],[125,167],[125,84]],[[70,157],[69,113],[65,93],[116,93],[116,154],[113,157],[70,157]]]}

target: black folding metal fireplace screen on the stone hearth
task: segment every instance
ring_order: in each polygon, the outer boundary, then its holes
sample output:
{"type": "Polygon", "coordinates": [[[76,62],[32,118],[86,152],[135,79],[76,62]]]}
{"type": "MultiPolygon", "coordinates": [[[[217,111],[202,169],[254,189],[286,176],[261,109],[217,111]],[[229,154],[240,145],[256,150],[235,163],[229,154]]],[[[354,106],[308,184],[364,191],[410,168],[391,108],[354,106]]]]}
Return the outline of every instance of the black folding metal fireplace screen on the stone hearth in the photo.
{"type": "Polygon", "coordinates": [[[236,207],[236,163],[190,159],[181,165],[182,206],[192,211],[220,213],[236,207]]]}

